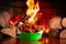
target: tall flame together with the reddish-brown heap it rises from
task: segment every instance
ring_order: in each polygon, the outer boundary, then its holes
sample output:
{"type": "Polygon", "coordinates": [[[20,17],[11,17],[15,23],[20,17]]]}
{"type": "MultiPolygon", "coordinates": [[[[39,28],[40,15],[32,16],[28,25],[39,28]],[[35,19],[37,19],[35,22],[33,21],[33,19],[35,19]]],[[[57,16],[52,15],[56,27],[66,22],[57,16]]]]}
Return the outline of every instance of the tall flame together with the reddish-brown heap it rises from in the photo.
{"type": "Polygon", "coordinates": [[[43,26],[36,24],[38,19],[36,16],[36,13],[40,10],[38,1],[34,4],[34,0],[28,0],[26,4],[29,7],[29,9],[26,10],[26,16],[29,18],[24,21],[22,25],[20,25],[19,29],[21,30],[21,32],[40,32],[41,30],[43,30],[43,26]]]}

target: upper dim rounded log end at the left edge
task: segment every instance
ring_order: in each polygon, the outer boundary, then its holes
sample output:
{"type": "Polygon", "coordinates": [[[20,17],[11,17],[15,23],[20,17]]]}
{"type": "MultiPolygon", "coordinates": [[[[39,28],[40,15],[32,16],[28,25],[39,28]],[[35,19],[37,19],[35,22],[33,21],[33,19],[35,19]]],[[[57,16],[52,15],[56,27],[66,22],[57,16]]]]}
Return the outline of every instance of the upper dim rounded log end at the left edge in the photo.
{"type": "Polygon", "coordinates": [[[7,11],[0,12],[0,25],[7,26],[10,20],[10,14],[7,11]]]}

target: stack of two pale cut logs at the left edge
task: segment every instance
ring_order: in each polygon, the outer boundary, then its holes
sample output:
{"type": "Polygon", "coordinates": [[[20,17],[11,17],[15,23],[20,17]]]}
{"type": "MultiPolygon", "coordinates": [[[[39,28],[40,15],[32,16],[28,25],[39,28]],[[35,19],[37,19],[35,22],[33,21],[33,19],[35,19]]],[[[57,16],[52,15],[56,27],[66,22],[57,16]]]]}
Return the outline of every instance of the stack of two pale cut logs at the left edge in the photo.
{"type": "Polygon", "coordinates": [[[0,25],[2,26],[2,29],[0,29],[0,33],[15,37],[13,26],[9,23],[9,21],[10,21],[10,14],[7,11],[1,11],[0,25]]]}

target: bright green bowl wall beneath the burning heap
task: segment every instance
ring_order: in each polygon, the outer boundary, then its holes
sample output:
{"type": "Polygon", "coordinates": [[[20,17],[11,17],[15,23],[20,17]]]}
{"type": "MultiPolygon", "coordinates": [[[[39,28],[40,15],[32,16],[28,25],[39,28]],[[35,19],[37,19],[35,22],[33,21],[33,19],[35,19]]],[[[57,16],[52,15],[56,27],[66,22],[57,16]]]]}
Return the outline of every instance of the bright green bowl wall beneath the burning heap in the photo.
{"type": "Polygon", "coordinates": [[[37,41],[42,38],[41,33],[20,33],[19,36],[20,40],[25,40],[25,41],[37,41]]]}

